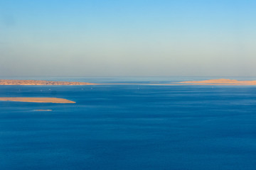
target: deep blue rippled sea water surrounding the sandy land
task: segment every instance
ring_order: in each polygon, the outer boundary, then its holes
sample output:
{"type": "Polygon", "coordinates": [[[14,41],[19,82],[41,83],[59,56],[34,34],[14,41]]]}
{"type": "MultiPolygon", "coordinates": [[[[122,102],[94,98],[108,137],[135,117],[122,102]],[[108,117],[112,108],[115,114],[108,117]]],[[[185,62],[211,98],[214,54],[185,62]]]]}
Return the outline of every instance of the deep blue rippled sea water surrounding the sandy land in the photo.
{"type": "Polygon", "coordinates": [[[0,86],[0,96],[76,102],[0,101],[1,170],[256,169],[255,86],[0,86]]]}

